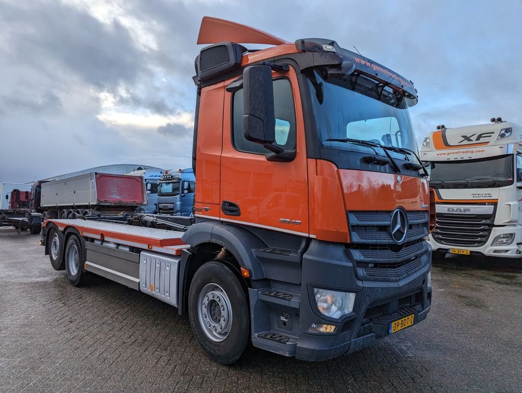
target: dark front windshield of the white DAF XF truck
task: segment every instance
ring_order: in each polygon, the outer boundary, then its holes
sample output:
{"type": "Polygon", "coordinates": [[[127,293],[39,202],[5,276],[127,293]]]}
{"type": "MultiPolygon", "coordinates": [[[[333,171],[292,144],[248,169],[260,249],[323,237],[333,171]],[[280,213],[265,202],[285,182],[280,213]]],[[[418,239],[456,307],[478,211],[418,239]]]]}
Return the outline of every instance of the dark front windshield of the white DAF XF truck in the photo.
{"type": "Polygon", "coordinates": [[[476,160],[437,161],[426,166],[434,188],[489,188],[513,184],[513,155],[476,160]]]}

